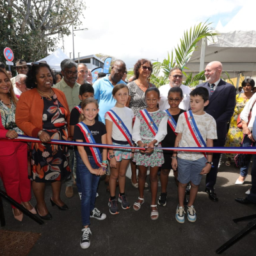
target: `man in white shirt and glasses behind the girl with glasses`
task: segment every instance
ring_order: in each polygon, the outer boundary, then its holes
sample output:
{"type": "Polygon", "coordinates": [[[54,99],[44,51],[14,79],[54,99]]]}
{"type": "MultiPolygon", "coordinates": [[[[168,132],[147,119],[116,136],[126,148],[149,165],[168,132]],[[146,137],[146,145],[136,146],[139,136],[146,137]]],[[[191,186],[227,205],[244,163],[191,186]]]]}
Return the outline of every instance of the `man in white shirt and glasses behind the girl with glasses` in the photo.
{"type": "Polygon", "coordinates": [[[190,99],[189,93],[191,92],[191,89],[188,86],[182,84],[182,77],[183,77],[183,74],[182,74],[181,68],[174,67],[170,70],[170,73],[169,73],[170,83],[164,84],[159,88],[160,110],[164,111],[165,109],[170,108],[168,99],[167,99],[168,92],[169,92],[170,88],[179,86],[183,93],[183,99],[182,99],[182,101],[180,101],[179,108],[188,111],[189,99],[190,99]]]}

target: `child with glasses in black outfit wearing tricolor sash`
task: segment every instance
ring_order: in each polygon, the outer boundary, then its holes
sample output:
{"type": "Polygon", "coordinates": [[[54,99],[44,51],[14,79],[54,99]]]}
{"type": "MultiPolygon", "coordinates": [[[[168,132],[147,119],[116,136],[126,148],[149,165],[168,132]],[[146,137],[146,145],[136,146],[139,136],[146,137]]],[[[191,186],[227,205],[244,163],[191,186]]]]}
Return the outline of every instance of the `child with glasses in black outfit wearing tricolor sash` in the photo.
{"type": "MultiPolygon", "coordinates": [[[[185,112],[183,109],[179,108],[179,104],[183,99],[182,90],[179,87],[172,87],[168,92],[168,103],[170,108],[166,109],[166,113],[168,115],[168,122],[167,122],[167,135],[165,136],[164,140],[161,142],[162,147],[174,147],[175,139],[177,133],[175,133],[175,129],[177,126],[178,118],[180,114],[185,112]]],[[[161,195],[158,199],[158,204],[165,206],[167,203],[167,184],[170,170],[172,169],[172,154],[173,151],[171,150],[163,150],[164,153],[164,163],[161,167],[161,195]]],[[[177,170],[173,172],[176,183],[178,178],[177,170]]]]}

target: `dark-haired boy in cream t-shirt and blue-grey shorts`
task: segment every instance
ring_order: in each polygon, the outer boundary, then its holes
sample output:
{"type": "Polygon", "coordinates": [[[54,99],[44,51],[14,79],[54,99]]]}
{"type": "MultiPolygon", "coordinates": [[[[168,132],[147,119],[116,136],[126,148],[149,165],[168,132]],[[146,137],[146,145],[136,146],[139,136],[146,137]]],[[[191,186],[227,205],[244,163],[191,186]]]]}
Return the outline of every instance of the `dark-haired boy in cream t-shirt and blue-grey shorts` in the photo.
{"type": "MultiPolygon", "coordinates": [[[[199,87],[190,93],[191,111],[179,116],[177,137],[174,147],[213,147],[213,140],[217,139],[216,122],[214,118],[205,113],[204,107],[209,104],[209,93],[206,88],[199,87]]],[[[210,172],[212,166],[212,153],[173,151],[172,168],[178,168],[178,195],[175,218],[179,223],[185,221],[184,196],[188,182],[191,184],[189,202],[187,206],[188,220],[196,221],[194,202],[202,175],[210,172]]]]}

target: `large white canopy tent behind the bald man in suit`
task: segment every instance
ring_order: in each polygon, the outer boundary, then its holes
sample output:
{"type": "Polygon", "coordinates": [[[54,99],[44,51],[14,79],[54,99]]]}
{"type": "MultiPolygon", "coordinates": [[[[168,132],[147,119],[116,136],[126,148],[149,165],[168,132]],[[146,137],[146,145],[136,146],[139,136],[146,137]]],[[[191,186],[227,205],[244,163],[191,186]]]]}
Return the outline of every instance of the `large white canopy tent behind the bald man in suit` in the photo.
{"type": "MultiPolygon", "coordinates": [[[[223,71],[227,71],[230,77],[237,77],[241,73],[256,76],[256,24],[253,15],[248,15],[248,10],[250,7],[243,6],[225,27],[219,22],[216,30],[220,35],[214,38],[214,42],[207,40],[202,57],[202,40],[198,43],[199,50],[193,52],[186,64],[189,71],[185,72],[197,74],[200,61],[205,58],[204,67],[211,61],[221,61],[223,71]]],[[[225,74],[223,78],[227,78],[225,74]]]]}

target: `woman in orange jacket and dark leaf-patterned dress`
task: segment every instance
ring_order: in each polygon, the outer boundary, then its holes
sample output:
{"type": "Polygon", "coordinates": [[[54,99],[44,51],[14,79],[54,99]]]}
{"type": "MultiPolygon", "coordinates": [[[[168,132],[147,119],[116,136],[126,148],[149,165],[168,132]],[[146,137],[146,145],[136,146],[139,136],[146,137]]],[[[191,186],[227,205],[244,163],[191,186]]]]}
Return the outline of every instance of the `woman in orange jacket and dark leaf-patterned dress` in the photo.
{"type": "Polygon", "coordinates": [[[28,136],[39,138],[31,143],[31,180],[40,218],[51,220],[44,200],[45,183],[51,183],[52,206],[67,210],[60,198],[61,180],[70,177],[68,150],[65,145],[49,144],[51,140],[68,140],[69,109],[65,94],[52,88],[53,78],[44,61],[32,63],[26,86],[31,88],[20,95],[16,124],[28,136]]]}

